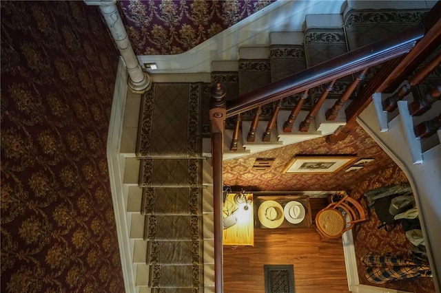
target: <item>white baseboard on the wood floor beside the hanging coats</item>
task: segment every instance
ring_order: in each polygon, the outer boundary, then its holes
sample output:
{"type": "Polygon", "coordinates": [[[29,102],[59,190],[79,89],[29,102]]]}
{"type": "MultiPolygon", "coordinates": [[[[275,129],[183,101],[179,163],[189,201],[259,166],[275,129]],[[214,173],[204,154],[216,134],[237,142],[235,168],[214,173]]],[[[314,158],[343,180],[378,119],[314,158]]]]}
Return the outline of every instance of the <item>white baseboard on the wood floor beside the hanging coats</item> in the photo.
{"type": "Polygon", "coordinates": [[[342,243],[343,253],[345,254],[346,274],[349,291],[358,293],[409,293],[400,290],[360,284],[357,270],[356,250],[355,246],[353,245],[352,230],[349,230],[342,235],[342,243]]]}

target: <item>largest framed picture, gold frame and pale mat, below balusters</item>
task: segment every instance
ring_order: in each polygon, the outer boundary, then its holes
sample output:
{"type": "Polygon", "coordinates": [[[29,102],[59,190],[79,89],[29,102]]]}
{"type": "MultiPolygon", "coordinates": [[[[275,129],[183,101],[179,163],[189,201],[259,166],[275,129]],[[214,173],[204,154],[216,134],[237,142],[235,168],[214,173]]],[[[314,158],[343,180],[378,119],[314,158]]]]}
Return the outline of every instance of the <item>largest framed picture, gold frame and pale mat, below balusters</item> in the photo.
{"type": "Polygon", "coordinates": [[[288,162],[282,173],[334,173],[354,160],[357,160],[357,157],[353,155],[296,155],[288,162]]]}

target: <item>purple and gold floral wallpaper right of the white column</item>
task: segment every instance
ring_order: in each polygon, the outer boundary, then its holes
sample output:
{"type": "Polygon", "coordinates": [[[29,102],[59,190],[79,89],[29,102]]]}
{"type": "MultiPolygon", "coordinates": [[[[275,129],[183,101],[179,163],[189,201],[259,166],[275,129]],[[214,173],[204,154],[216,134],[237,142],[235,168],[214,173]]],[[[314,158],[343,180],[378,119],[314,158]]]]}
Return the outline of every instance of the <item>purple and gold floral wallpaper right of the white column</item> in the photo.
{"type": "Polygon", "coordinates": [[[275,0],[119,1],[136,55],[186,52],[275,0]]]}

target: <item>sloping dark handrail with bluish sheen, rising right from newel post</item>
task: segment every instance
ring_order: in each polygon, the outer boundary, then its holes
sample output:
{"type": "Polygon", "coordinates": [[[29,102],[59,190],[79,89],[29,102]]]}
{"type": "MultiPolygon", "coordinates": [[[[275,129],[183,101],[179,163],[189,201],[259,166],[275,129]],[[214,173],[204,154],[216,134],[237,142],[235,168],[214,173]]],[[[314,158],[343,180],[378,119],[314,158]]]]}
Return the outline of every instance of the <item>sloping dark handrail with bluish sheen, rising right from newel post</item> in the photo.
{"type": "Polygon", "coordinates": [[[269,102],[300,93],[331,80],[358,72],[408,53],[416,41],[424,36],[424,25],[404,30],[393,38],[382,39],[340,55],[314,67],[302,70],[259,89],[227,101],[227,117],[254,109],[269,102]]]}

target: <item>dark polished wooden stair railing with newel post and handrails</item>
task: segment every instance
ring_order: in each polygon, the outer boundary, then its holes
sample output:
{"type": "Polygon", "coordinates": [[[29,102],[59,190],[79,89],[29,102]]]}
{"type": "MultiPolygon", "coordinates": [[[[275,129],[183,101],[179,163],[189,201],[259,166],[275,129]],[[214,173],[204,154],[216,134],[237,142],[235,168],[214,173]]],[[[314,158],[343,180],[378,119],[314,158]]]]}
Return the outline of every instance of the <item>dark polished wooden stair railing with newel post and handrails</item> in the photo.
{"type": "MultiPolygon", "coordinates": [[[[212,87],[212,102],[210,104],[210,120],[212,125],[212,166],[214,186],[214,266],[215,292],[223,292],[223,137],[225,118],[236,116],[244,111],[255,109],[269,102],[280,101],[283,98],[307,91],[318,85],[327,84],[325,91],[330,91],[335,80],[349,74],[360,72],[358,80],[353,84],[355,89],[369,67],[382,64],[375,76],[363,87],[358,97],[345,110],[347,123],[339,127],[335,133],[327,136],[329,144],[347,138],[356,126],[356,118],[372,101],[372,94],[393,89],[400,85],[404,78],[414,72],[435,47],[441,43],[441,1],[419,25],[403,30],[400,34],[365,45],[357,50],[348,52],[314,67],[283,78],[259,89],[249,91],[234,100],[225,103],[225,88],[216,84],[212,87]],[[225,106],[226,105],[226,106],[225,106]]],[[[351,86],[352,87],[352,86],[351,86]]],[[[438,96],[438,87],[431,91],[438,96]]],[[[352,91],[351,91],[352,92],[352,91]]],[[[349,95],[351,94],[349,93],[349,95]]],[[[432,94],[431,94],[432,95],[432,94]]],[[[322,94],[325,96],[326,94],[322,94]]],[[[349,97],[349,96],[348,96],[349,97]]],[[[325,98],[320,98],[319,102],[325,98]]],[[[430,100],[430,98],[429,98],[430,100]]],[[[302,99],[296,105],[301,107],[302,99]]],[[[316,113],[318,109],[314,109],[316,113]]],[[[310,116],[315,113],[310,112],[310,116]]],[[[294,113],[296,114],[296,113],[294,113]]],[[[308,117],[307,117],[308,118],[308,117]]],[[[311,118],[309,118],[311,119],[311,118]]],[[[309,121],[310,122],[310,121],[309,121]]],[[[238,118],[240,123],[240,118],[238,118]]],[[[437,116],[415,128],[416,135],[424,137],[438,129],[441,116],[437,116]]],[[[236,124],[237,125],[237,124],[236,124]]],[[[306,127],[306,125],[304,125],[306,127]]],[[[255,125],[257,128],[257,123],[255,125]]],[[[238,133],[238,127],[236,127],[238,133]]],[[[235,131],[235,132],[236,132],[235,131]]]]}

